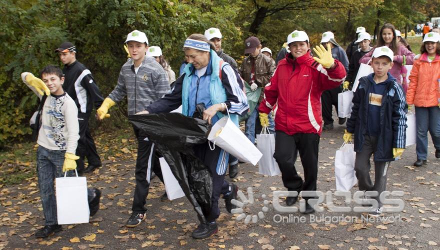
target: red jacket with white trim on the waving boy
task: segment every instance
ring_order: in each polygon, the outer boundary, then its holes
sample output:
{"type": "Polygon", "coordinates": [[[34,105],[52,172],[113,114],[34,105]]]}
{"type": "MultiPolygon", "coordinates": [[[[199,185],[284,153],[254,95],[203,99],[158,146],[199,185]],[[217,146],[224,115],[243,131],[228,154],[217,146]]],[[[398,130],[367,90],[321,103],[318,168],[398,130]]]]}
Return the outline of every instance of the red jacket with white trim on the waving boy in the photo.
{"type": "Polygon", "coordinates": [[[321,93],[339,86],[346,75],[342,63],[334,63],[334,68],[326,69],[313,60],[310,51],[296,59],[289,53],[278,62],[258,108],[269,113],[276,104],[275,130],[289,135],[321,133],[321,93]]]}

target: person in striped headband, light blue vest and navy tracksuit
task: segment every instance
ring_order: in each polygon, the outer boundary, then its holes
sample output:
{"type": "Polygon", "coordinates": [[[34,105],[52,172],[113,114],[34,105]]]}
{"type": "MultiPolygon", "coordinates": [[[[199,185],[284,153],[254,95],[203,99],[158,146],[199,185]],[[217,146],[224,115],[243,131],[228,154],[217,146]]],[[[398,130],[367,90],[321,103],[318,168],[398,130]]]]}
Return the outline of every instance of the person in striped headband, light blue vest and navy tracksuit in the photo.
{"type": "MultiPolygon", "coordinates": [[[[238,126],[238,115],[247,111],[247,99],[243,83],[231,65],[224,62],[215,52],[214,45],[202,34],[191,34],[183,45],[188,64],[175,80],[174,90],[160,100],[151,103],[146,112],[169,112],[182,105],[182,114],[192,116],[197,104],[203,103],[206,110],[203,119],[214,124],[226,115],[238,126]]],[[[231,200],[236,198],[238,187],[224,180],[229,153],[219,147],[209,149],[208,142],[194,147],[194,154],[211,173],[211,208],[205,215],[206,223],[200,223],[192,232],[193,238],[206,238],[217,232],[216,218],[220,214],[218,199],[223,195],[226,209],[234,208],[231,200]]]]}

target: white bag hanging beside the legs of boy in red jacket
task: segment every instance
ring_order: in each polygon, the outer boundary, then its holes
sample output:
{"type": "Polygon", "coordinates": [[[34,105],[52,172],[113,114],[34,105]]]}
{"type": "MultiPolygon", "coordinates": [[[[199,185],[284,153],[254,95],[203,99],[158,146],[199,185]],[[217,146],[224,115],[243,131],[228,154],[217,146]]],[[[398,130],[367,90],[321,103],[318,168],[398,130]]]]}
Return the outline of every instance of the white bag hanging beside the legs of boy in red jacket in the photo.
{"type": "Polygon", "coordinates": [[[261,133],[256,135],[256,140],[258,141],[256,147],[263,154],[258,161],[258,172],[270,176],[280,175],[281,171],[279,170],[278,163],[276,163],[275,158],[273,158],[275,135],[270,134],[267,127],[263,127],[261,133]]]}

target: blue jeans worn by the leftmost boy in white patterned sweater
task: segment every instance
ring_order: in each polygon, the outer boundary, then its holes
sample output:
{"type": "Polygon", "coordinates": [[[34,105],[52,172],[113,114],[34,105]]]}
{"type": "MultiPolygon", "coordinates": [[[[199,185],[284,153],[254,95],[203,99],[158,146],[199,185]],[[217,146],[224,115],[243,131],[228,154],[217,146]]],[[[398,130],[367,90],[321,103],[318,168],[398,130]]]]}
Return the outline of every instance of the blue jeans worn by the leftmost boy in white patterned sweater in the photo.
{"type": "MultiPolygon", "coordinates": [[[[51,150],[42,146],[38,146],[36,150],[36,172],[45,225],[58,224],[54,179],[64,176],[62,172],[64,153],[65,150],[51,150]]],[[[75,171],[67,171],[67,176],[76,176],[75,171]]],[[[93,191],[87,188],[88,201],[92,198],[93,191]]]]}

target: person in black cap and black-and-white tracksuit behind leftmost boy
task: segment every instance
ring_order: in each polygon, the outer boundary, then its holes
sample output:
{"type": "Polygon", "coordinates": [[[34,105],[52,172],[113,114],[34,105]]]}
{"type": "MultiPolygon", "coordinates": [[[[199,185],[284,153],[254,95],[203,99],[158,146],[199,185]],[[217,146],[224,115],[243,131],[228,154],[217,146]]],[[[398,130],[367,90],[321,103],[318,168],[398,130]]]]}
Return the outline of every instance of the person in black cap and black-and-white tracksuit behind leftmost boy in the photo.
{"type": "Polygon", "coordinates": [[[64,68],[63,88],[67,94],[75,101],[78,108],[79,139],[76,148],[76,154],[79,159],[76,160],[78,174],[82,172],[91,172],[102,165],[101,159],[96,151],[96,146],[88,129],[88,118],[93,110],[93,106],[98,108],[102,103],[102,95],[96,82],[84,64],[76,60],[76,46],[69,41],[59,45],[55,52],[64,68]],[[88,167],[84,171],[84,158],[87,157],[88,167]]]}

